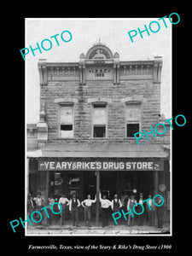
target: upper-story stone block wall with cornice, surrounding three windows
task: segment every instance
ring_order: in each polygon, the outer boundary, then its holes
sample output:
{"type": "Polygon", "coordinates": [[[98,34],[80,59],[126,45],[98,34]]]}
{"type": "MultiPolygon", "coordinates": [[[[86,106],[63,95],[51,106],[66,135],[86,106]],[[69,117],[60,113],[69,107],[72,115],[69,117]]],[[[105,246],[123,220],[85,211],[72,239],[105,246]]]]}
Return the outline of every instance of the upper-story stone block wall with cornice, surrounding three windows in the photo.
{"type": "MultiPolygon", "coordinates": [[[[40,104],[44,104],[48,143],[137,143],[134,137],[128,138],[125,133],[125,102],[129,101],[141,102],[140,131],[150,131],[150,126],[159,123],[161,58],[154,61],[119,61],[118,58],[117,65],[114,60],[98,64],[84,59],[84,65],[81,59],[79,63],[38,63],[40,104]],[[106,79],[90,77],[90,69],[96,67],[107,68],[110,75],[106,79]],[[58,137],[60,100],[74,102],[73,138],[58,137]],[[94,101],[108,103],[108,135],[105,138],[91,137],[91,102],[94,101]]],[[[160,137],[149,137],[151,143],[160,143],[160,137]]],[[[143,142],[146,141],[144,138],[143,142]]]]}

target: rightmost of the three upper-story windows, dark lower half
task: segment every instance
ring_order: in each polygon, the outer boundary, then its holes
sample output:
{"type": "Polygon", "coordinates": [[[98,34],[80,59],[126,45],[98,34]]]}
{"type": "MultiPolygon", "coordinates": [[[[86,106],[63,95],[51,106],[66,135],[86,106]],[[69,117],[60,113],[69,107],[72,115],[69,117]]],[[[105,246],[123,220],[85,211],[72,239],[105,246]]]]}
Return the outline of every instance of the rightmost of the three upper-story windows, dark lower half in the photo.
{"type": "Polygon", "coordinates": [[[129,102],[125,105],[126,137],[134,137],[141,130],[141,103],[129,102]]]}

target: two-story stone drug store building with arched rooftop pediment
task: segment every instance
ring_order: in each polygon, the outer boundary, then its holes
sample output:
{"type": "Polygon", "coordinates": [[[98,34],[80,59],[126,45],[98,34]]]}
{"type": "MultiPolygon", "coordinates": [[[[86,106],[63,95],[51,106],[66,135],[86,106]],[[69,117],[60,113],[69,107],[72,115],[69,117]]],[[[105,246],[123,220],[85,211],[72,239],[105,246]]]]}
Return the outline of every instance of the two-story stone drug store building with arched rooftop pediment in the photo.
{"type": "MultiPolygon", "coordinates": [[[[109,199],[161,191],[169,221],[169,129],[140,144],[134,137],[163,122],[161,67],[160,57],[120,61],[101,43],[79,62],[39,61],[40,119],[27,126],[27,190],[40,190],[46,201],[61,192],[82,201],[99,189],[109,199]]],[[[98,201],[93,215],[98,224],[98,201]]]]}

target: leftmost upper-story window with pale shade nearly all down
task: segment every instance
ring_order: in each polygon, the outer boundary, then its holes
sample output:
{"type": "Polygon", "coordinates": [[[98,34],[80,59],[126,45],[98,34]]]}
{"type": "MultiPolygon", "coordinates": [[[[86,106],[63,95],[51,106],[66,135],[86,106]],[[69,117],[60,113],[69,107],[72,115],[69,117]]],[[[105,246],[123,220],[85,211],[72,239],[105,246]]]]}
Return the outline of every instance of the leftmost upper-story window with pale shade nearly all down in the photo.
{"type": "Polygon", "coordinates": [[[73,104],[59,106],[59,137],[73,137],[73,104]]]}

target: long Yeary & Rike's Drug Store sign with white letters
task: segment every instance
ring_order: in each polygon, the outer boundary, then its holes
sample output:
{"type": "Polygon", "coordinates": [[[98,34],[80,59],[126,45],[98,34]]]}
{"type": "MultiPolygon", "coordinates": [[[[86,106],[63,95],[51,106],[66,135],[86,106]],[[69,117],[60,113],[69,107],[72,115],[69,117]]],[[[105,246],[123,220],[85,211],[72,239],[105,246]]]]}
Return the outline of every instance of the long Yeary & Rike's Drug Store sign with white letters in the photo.
{"type": "Polygon", "coordinates": [[[163,171],[163,160],[39,160],[39,171],[163,171]]]}

